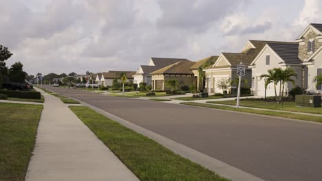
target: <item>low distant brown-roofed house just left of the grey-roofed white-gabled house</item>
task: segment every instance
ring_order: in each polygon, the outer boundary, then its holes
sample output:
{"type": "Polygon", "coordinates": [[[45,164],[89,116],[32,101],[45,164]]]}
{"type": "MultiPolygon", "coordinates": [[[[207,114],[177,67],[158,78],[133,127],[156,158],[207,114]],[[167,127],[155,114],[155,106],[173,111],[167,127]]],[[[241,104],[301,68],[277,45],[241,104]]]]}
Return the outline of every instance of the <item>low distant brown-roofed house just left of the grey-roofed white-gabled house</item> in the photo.
{"type": "Polygon", "coordinates": [[[135,71],[108,71],[102,73],[102,84],[104,86],[112,86],[113,80],[120,76],[121,73],[125,73],[127,75],[127,82],[129,80],[133,81],[133,75],[136,73],[135,71]]]}

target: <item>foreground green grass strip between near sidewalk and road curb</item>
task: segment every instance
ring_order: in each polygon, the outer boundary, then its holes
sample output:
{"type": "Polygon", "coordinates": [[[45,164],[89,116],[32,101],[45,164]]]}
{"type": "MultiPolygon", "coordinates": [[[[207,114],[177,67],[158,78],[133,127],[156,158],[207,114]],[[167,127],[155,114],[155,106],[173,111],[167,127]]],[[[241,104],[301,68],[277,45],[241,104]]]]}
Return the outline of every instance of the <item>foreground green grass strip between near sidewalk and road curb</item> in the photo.
{"type": "Polygon", "coordinates": [[[227,180],[90,108],[69,108],[142,181],[227,180]]]}

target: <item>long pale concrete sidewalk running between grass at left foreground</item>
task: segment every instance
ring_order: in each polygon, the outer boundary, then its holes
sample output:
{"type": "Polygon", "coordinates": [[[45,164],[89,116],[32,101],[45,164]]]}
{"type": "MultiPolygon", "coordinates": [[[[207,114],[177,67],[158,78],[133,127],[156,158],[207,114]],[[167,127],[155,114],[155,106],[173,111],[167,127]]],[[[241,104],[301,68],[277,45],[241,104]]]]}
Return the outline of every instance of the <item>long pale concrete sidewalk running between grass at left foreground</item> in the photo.
{"type": "Polygon", "coordinates": [[[138,180],[68,106],[45,97],[25,180],[138,180]]]}

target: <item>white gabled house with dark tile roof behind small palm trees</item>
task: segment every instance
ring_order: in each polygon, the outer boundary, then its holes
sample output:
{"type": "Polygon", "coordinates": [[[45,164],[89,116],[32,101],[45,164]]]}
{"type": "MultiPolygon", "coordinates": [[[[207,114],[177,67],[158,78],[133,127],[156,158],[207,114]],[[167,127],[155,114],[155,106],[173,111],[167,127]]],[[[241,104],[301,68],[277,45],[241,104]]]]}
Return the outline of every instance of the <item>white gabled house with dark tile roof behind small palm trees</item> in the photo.
{"type": "MultiPolygon", "coordinates": [[[[292,42],[268,42],[265,47],[259,52],[258,56],[249,66],[252,69],[252,87],[254,95],[258,96],[275,96],[274,84],[270,83],[265,88],[265,78],[260,78],[264,73],[268,73],[269,69],[290,67],[297,73],[295,86],[305,87],[304,73],[302,61],[299,59],[299,43],[292,42]]],[[[287,95],[289,90],[293,88],[293,84],[288,82],[285,85],[284,95],[287,95]]],[[[277,93],[279,93],[279,85],[277,85],[277,93]]]]}

